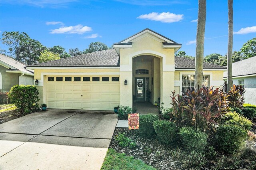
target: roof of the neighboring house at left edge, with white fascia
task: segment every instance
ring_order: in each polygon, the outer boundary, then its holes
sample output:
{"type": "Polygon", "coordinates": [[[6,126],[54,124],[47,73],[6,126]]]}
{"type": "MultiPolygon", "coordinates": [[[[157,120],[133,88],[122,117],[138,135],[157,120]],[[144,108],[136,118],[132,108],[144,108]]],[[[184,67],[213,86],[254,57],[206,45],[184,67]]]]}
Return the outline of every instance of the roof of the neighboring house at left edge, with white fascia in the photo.
{"type": "Polygon", "coordinates": [[[26,75],[34,76],[34,71],[27,69],[24,63],[13,59],[12,57],[7,57],[6,55],[0,54],[0,65],[6,67],[9,73],[24,73],[26,75]]]}

